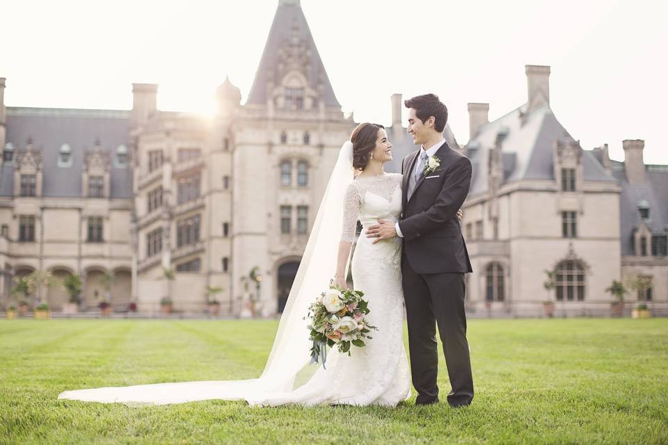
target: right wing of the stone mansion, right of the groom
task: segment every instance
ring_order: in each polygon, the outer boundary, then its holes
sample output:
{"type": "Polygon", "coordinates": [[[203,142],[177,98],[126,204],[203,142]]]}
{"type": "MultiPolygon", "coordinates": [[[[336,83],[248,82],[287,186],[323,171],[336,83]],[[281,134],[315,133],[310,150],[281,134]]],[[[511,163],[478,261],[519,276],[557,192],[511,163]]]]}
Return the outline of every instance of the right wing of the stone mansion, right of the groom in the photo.
{"type": "Polygon", "coordinates": [[[645,165],[642,140],[623,142],[623,163],[607,145],[582,149],[550,109],[550,67],[526,73],[527,103],[502,118],[488,122],[488,104],[468,104],[468,310],[542,316],[552,301],[557,316],[605,315],[612,281],[644,275],[652,289],[630,292],[626,310],[642,302],[667,314],[668,166],[645,165]],[[543,286],[546,271],[555,289],[543,286]]]}

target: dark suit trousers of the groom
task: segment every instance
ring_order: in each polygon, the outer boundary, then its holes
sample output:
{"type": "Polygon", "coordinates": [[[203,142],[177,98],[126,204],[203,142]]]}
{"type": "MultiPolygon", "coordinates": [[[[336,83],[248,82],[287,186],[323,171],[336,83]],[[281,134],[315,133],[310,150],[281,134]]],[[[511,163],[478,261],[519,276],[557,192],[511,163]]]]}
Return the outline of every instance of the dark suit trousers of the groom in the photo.
{"type": "Polygon", "coordinates": [[[468,405],[473,399],[473,377],[466,340],[464,274],[417,273],[411,268],[406,254],[401,255],[401,273],[408,319],[411,377],[417,391],[415,403],[438,400],[438,324],[452,387],[447,402],[452,406],[468,405]]]}

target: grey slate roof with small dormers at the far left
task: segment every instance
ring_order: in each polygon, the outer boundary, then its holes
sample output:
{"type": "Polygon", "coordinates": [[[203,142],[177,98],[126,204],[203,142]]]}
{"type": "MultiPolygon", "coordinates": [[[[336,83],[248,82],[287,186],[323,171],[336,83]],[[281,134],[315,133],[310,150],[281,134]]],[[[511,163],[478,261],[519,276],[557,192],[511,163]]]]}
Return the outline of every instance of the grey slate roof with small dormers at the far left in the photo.
{"type": "MultiPolygon", "coordinates": [[[[7,107],[7,138],[15,152],[33,139],[33,147],[43,152],[42,194],[47,197],[80,197],[84,149],[92,149],[100,139],[101,149],[111,154],[111,197],[132,197],[132,169],[114,163],[116,149],[129,150],[130,111],[79,110],[61,108],[7,107]],[[72,149],[72,165],[58,166],[63,144],[72,149]]],[[[13,195],[14,166],[0,169],[0,195],[13,195]]]]}

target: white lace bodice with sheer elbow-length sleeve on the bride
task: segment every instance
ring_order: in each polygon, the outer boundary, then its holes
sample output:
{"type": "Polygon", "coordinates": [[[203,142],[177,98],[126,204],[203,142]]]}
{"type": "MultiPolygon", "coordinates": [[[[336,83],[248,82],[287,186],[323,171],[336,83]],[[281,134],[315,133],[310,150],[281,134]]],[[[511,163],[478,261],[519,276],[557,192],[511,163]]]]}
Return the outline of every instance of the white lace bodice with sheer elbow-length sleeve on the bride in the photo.
{"type": "Polygon", "coordinates": [[[348,186],[344,197],[342,241],[355,240],[358,220],[362,225],[375,223],[379,218],[397,220],[401,213],[401,178],[399,173],[358,177],[348,186]]]}

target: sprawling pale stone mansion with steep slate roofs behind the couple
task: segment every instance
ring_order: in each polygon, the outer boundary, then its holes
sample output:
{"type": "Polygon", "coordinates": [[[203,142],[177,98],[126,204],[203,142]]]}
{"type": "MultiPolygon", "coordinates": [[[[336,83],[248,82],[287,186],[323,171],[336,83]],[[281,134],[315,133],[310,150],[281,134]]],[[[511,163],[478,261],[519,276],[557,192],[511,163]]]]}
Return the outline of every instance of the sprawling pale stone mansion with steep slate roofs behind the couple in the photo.
{"type": "MultiPolygon", "coordinates": [[[[647,276],[651,288],[626,299],[668,311],[668,165],[645,165],[642,140],[623,141],[623,162],[607,145],[583,149],[550,108],[549,74],[527,65],[527,102],[493,122],[488,104],[468,104],[466,145],[445,129],[473,164],[468,310],[540,316],[550,299],[557,314],[607,314],[612,280],[647,276]]],[[[246,103],[225,79],[213,118],[157,110],[154,84],[133,84],[129,111],[5,106],[5,88],[0,78],[0,307],[14,302],[15,277],[40,270],[54,282],[80,274],[84,311],[109,296],[117,311],[157,312],[169,296],[199,314],[207,286],[222,288],[223,314],[250,300],[282,311],[356,124],[299,0],[279,1],[246,103]]],[[[417,147],[401,95],[390,99],[396,172],[417,147]]],[[[28,298],[58,311],[67,293],[56,284],[28,298]]]]}

